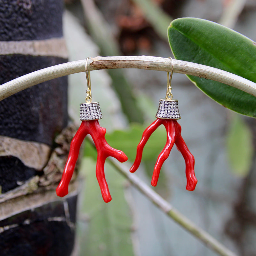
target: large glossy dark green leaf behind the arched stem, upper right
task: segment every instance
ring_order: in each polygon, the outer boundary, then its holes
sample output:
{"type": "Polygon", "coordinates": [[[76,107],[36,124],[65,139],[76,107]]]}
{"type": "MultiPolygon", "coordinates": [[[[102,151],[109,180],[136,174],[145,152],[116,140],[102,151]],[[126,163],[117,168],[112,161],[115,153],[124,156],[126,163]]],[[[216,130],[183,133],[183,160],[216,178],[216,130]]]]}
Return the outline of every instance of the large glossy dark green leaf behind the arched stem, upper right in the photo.
{"type": "MultiPolygon", "coordinates": [[[[168,37],[176,59],[220,68],[256,83],[256,44],[236,31],[208,20],[180,18],[171,22],[168,37]]],[[[188,77],[224,107],[256,117],[256,97],[251,94],[205,78],[188,77]]]]}

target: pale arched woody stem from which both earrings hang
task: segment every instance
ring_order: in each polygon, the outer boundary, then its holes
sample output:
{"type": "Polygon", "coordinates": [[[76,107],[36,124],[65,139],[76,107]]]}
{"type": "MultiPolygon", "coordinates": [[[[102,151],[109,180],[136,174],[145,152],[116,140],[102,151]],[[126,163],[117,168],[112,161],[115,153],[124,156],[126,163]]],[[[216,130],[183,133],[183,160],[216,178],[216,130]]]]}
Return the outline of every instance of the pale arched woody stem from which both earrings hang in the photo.
{"type": "MultiPolygon", "coordinates": [[[[113,68],[140,68],[159,71],[171,70],[170,59],[153,56],[96,57],[90,58],[88,65],[88,71],[113,68]]],[[[256,84],[241,76],[218,68],[182,60],[173,60],[173,65],[173,72],[175,73],[204,77],[228,84],[256,97],[256,84]]],[[[33,85],[79,72],[85,72],[85,60],[67,62],[20,76],[0,86],[0,100],[33,85]]]]}

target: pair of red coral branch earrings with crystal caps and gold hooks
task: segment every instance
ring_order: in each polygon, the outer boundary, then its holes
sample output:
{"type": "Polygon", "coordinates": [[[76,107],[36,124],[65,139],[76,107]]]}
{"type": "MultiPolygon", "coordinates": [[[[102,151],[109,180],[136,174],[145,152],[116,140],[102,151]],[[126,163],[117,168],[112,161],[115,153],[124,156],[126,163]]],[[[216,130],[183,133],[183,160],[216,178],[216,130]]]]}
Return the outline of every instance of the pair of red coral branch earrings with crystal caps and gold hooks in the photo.
{"type": "MultiPolygon", "coordinates": [[[[180,113],[178,108],[178,100],[172,100],[171,81],[173,73],[173,60],[171,57],[169,58],[172,62],[172,70],[170,77],[169,72],[167,72],[167,91],[165,99],[159,100],[156,120],[152,124],[150,124],[142,134],[142,138],[137,147],[136,158],[130,169],[130,172],[135,172],[139,168],[145,144],[147,143],[151,134],[157,129],[157,127],[163,124],[167,132],[167,141],[164,149],[157,158],[151,180],[151,185],[156,186],[161,167],[164,161],[170,155],[171,149],[175,143],[178,150],[181,152],[182,156],[185,159],[187,177],[186,189],[194,190],[197,183],[194,172],[195,160],[194,156],[189,152],[186,143],[181,137],[181,126],[177,122],[177,119],[180,119],[180,113]]],[[[103,200],[108,203],[109,201],[111,201],[111,196],[104,173],[105,160],[108,156],[113,156],[119,162],[123,163],[127,161],[128,158],[123,151],[110,147],[105,139],[106,129],[101,127],[98,121],[102,118],[100,104],[99,102],[92,102],[90,71],[88,71],[87,68],[88,59],[89,58],[87,58],[85,62],[85,73],[88,87],[86,90],[87,96],[85,98],[85,103],[80,104],[80,120],[82,121],[82,123],[71,141],[68,160],[65,165],[60,183],[56,188],[56,193],[58,196],[61,197],[68,194],[68,184],[75,169],[76,161],[79,155],[79,149],[85,136],[90,134],[98,152],[96,163],[96,177],[100,185],[100,191],[103,200]]]]}

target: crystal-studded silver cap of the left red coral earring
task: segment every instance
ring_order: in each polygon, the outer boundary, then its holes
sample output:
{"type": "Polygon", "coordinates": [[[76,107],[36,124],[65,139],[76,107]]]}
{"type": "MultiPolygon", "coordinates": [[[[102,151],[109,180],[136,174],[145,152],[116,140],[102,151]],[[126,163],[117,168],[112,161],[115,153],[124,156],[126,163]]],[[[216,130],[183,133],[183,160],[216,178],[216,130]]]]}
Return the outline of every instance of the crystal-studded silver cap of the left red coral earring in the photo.
{"type": "Polygon", "coordinates": [[[80,104],[80,120],[90,121],[102,118],[99,102],[81,103],[80,104]]]}

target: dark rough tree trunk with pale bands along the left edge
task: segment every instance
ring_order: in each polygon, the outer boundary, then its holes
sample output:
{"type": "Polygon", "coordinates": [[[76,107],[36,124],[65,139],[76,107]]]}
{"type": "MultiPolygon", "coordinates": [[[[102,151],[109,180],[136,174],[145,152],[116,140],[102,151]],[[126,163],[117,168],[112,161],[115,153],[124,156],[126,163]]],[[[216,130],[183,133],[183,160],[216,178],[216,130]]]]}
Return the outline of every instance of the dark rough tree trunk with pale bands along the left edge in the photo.
{"type": "MultiPolygon", "coordinates": [[[[0,0],[0,84],[67,61],[62,11],[62,0],[0,0]]],[[[73,250],[76,184],[66,199],[55,195],[74,132],[67,122],[67,77],[0,101],[1,255],[73,250]]]]}

